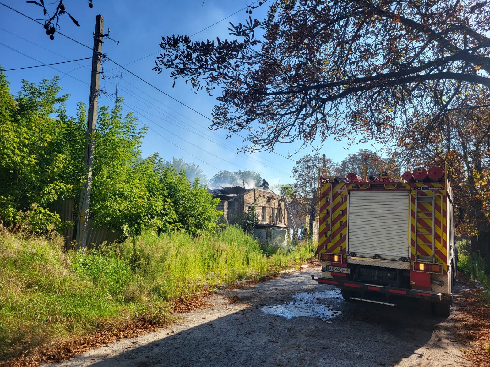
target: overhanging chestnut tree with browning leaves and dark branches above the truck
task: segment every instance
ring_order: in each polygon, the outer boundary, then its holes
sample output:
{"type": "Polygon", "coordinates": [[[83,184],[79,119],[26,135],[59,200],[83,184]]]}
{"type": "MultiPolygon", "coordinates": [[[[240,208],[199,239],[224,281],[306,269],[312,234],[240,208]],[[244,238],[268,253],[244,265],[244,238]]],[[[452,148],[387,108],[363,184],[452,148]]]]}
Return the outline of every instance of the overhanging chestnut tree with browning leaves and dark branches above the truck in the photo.
{"type": "MultiPolygon", "coordinates": [[[[162,37],[154,70],[217,94],[212,128],[246,134],[243,150],[327,137],[391,141],[424,129],[490,85],[490,3],[475,0],[275,0],[230,38],[162,37]]],[[[483,104],[489,104],[483,101],[483,104]]],[[[321,143],[320,143],[321,144],[321,143]]]]}

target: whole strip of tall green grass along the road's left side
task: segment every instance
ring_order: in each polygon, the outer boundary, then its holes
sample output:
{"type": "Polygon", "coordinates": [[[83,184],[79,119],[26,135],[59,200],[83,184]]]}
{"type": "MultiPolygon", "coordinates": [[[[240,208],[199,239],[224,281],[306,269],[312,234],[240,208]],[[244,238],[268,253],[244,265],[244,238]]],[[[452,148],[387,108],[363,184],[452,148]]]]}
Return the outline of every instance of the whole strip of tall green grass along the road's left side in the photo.
{"type": "Polygon", "coordinates": [[[314,246],[267,257],[253,237],[228,226],[197,238],[147,232],[97,250],[62,249],[60,238],[0,232],[0,360],[139,316],[164,322],[173,302],[297,267],[314,246]]]}

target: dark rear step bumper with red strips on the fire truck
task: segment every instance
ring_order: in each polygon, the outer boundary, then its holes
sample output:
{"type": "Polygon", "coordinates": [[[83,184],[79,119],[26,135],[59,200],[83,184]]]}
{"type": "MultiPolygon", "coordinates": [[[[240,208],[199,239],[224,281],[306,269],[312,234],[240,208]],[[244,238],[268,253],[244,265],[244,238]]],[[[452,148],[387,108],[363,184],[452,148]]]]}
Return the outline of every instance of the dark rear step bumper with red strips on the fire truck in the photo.
{"type": "Polygon", "coordinates": [[[352,282],[348,280],[337,280],[330,278],[315,278],[315,275],[311,275],[313,280],[318,281],[320,284],[329,284],[335,285],[341,289],[349,289],[355,292],[377,292],[383,293],[387,296],[405,296],[405,297],[413,297],[413,298],[422,298],[427,299],[431,302],[440,302],[440,303],[451,303],[451,297],[442,296],[441,293],[431,292],[431,291],[420,291],[418,289],[406,289],[406,288],[396,288],[396,287],[388,287],[382,285],[375,284],[366,284],[360,282],[352,282]]]}

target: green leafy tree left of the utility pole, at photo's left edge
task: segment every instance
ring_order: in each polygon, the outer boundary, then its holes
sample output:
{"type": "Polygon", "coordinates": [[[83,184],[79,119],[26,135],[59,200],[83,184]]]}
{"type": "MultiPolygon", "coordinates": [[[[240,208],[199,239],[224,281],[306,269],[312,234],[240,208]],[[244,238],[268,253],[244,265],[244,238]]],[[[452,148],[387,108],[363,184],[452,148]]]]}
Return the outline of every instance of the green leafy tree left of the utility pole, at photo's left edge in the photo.
{"type": "Polygon", "coordinates": [[[66,115],[68,96],[58,96],[58,80],[24,80],[14,97],[0,72],[0,223],[7,226],[59,225],[49,205],[80,189],[84,125],[66,115]]]}

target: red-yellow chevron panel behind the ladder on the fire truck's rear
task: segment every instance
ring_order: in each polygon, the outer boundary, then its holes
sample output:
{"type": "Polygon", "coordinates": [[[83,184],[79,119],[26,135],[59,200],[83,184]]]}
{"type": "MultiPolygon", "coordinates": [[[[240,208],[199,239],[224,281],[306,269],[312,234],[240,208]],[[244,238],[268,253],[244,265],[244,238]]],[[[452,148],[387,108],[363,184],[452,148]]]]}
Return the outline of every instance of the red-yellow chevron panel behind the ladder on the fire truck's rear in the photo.
{"type": "Polygon", "coordinates": [[[436,256],[438,263],[442,263],[443,272],[447,272],[447,228],[446,228],[446,195],[444,186],[439,183],[413,183],[412,188],[426,185],[436,190],[421,191],[414,190],[410,196],[411,229],[410,246],[412,261],[417,255],[436,256]],[[440,190],[437,190],[440,188],[440,190]],[[432,202],[418,202],[415,205],[415,197],[435,196],[434,208],[432,202]],[[434,210],[434,220],[432,212],[434,210]],[[416,223],[417,213],[417,223],[416,223]],[[434,231],[433,231],[434,229],[434,231]],[[435,253],[432,253],[432,242],[434,240],[435,253]]]}

